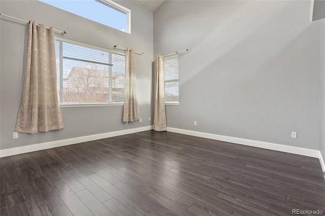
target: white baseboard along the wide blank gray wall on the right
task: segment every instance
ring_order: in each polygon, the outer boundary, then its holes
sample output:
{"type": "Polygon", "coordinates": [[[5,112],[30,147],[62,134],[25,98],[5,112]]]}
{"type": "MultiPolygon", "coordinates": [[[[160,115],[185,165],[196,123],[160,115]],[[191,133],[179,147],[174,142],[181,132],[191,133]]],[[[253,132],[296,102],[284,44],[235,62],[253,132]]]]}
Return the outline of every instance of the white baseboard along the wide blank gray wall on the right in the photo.
{"type": "MultiPolygon", "coordinates": [[[[256,141],[251,139],[243,139],[243,138],[223,136],[223,135],[217,135],[212,133],[204,133],[204,132],[198,132],[192,130],[171,128],[171,127],[167,127],[167,131],[191,135],[191,136],[198,136],[198,137],[203,137],[208,139],[214,139],[219,141],[232,142],[232,143],[241,144],[245,146],[258,147],[262,149],[269,149],[269,150],[274,150],[279,152],[286,152],[286,153],[291,153],[296,155],[304,155],[313,158],[320,158],[320,151],[312,150],[312,149],[305,149],[305,148],[286,146],[286,145],[281,145],[281,144],[276,144],[271,142],[256,141]]],[[[325,167],[322,168],[324,170],[325,167]]]]}

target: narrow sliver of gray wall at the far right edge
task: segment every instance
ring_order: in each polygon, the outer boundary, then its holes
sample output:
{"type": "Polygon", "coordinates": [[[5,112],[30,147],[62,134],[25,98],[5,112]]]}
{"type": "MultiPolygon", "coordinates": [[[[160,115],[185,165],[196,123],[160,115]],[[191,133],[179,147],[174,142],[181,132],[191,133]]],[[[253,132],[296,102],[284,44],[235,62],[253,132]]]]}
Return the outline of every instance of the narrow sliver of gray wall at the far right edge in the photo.
{"type": "Polygon", "coordinates": [[[316,21],[321,24],[320,47],[320,153],[325,159],[325,19],[316,21]]]}

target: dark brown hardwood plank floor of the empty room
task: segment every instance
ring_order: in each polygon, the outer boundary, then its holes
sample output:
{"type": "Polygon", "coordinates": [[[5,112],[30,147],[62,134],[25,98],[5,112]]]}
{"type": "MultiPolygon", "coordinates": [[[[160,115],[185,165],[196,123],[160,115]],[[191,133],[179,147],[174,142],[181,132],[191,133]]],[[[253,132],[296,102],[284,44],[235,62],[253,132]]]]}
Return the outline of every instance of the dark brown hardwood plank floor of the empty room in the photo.
{"type": "Polygon", "coordinates": [[[325,212],[319,160],[145,131],[1,158],[1,215],[325,212]]]}

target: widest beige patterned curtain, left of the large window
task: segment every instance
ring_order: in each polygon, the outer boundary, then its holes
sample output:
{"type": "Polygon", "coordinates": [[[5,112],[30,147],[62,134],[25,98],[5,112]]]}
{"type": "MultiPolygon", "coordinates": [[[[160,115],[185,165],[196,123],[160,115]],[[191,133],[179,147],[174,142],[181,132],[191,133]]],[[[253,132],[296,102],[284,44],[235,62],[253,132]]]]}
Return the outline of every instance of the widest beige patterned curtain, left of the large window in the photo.
{"type": "Polygon", "coordinates": [[[56,84],[53,28],[30,21],[25,80],[16,132],[37,133],[64,127],[56,84]]]}

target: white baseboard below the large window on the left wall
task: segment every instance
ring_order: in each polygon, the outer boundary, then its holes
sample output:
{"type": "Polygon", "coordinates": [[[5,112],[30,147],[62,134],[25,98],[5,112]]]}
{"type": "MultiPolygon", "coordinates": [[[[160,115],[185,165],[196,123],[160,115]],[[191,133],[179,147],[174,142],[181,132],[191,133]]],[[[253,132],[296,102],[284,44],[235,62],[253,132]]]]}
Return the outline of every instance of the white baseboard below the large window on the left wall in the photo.
{"type": "Polygon", "coordinates": [[[138,128],[132,128],[132,129],[126,129],[126,130],[118,130],[118,131],[112,131],[108,133],[100,133],[100,134],[94,134],[94,135],[88,135],[88,136],[80,136],[76,138],[69,138],[69,139],[61,139],[56,141],[50,141],[50,142],[43,142],[39,144],[34,145],[28,145],[23,147],[16,147],[16,148],[10,148],[10,149],[3,149],[0,150],[0,158],[12,156],[12,155],[19,155],[23,153],[28,152],[35,152],[39,150],[44,149],[51,149],[56,148],[60,146],[68,146],[80,142],[87,142],[97,139],[105,139],[113,136],[120,136],[120,135],[126,135],[130,133],[137,133],[142,132],[146,130],[152,130],[153,126],[145,126],[145,127],[138,127],[138,128]]]}

